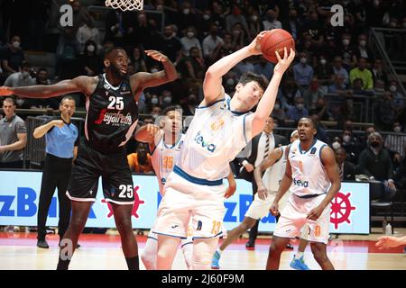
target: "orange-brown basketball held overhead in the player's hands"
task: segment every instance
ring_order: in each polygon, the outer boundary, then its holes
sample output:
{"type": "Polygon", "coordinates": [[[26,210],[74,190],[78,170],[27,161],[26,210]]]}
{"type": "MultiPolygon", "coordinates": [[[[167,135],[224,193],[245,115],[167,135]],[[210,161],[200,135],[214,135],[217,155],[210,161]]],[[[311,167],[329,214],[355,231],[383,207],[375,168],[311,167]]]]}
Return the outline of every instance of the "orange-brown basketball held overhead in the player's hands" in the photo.
{"type": "Polygon", "coordinates": [[[267,31],[263,35],[263,40],[261,41],[261,51],[263,52],[263,57],[272,63],[278,63],[278,58],[276,58],[275,51],[279,52],[281,58],[283,58],[283,48],[286,47],[288,53],[290,49],[295,49],[295,40],[291,37],[291,33],[283,29],[272,29],[267,31]]]}

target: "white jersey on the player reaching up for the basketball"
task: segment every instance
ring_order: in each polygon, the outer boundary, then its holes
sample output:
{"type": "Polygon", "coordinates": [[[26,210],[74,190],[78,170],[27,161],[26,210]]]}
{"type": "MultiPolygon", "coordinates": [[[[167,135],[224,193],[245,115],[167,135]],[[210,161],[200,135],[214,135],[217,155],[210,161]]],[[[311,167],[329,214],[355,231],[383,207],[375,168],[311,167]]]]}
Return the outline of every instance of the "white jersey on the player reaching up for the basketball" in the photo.
{"type": "Polygon", "coordinates": [[[231,111],[230,100],[225,95],[225,99],[196,108],[175,173],[212,182],[226,178],[229,162],[251,139],[251,125],[245,124],[250,112],[231,111]]]}

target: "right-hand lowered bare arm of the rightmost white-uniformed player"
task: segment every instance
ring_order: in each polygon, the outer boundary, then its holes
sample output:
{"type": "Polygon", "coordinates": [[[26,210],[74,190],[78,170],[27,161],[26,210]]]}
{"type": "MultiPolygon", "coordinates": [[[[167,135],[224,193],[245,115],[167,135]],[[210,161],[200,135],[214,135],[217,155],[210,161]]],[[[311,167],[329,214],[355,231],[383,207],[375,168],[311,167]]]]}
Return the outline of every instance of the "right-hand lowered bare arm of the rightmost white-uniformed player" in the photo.
{"type": "Polygon", "coordinates": [[[341,188],[341,181],[340,181],[340,175],[338,173],[336,157],[334,155],[332,148],[329,148],[327,146],[322,148],[321,162],[324,165],[324,168],[328,175],[328,180],[330,180],[330,182],[331,182],[331,186],[330,186],[330,189],[328,190],[326,198],[324,198],[323,201],[320,202],[320,204],[318,204],[318,207],[309,211],[308,219],[310,219],[310,220],[318,220],[318,217],[320,217],[323,210],[333,200],[333,198],[336,196],[336,193],[341,188]]]}

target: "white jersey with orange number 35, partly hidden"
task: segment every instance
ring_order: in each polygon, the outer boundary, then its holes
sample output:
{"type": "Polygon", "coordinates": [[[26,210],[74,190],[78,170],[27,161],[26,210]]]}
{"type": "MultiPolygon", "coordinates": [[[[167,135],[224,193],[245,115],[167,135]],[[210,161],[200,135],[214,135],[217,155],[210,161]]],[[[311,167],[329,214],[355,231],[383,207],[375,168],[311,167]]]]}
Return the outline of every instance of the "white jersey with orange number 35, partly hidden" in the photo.
{"type": "Polygon", "coordinates": [[[163,137],[152,151],[152,167],[155,171],[156,177],[160,184],[160,192],[163,193],[163,185],[166,183],[168,175],[173,170],[178,157],[180,155],[180,148],[183,146],[185,134],[182,133],[178,143],[173,146],[168,146],[164,143],[163,137]]]}

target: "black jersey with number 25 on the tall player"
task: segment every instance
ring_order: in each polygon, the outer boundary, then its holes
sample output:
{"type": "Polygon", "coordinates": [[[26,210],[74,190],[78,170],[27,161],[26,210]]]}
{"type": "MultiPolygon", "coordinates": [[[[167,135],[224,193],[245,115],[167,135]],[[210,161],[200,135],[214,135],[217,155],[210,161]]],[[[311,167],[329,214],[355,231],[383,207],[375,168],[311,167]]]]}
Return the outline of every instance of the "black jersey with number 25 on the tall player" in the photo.
{"type": "Polygon", "coordinates": [[[108,83],[105,74],[99,75],[95,92],[86,100],[86,110],[85,135],[89,145],[104,153],[122,149],[138,121],[138,105],[129,77],[115,87],[108,83]]]}

